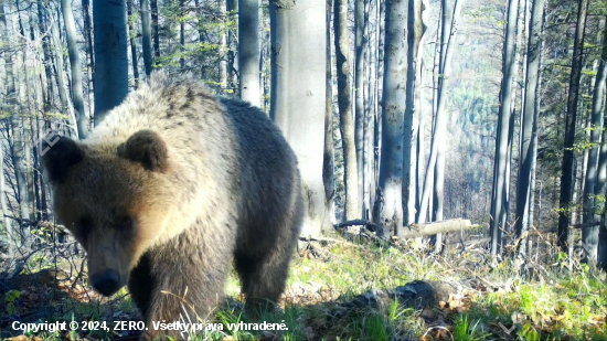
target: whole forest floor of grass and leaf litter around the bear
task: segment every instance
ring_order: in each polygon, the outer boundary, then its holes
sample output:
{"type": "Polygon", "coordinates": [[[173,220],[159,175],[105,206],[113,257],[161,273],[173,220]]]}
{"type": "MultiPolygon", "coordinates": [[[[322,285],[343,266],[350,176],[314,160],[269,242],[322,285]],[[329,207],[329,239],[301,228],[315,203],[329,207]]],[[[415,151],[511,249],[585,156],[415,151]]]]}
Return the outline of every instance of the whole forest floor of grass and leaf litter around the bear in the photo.
{"type": "MultiPolygon", "coordinates": [[[[243,310],[236,276],[199,340],[607,340],[605,273],[555,252],[491,262],[457,245],[443,255],[406,245],[331,239],[303,244],[280,307],[257,319],[243,310]],[[228,323],[285,323],[288,330],[228,329],[228,323]]],[[[70,254],[64,252],[60,255],[70,254]]],[[[0,280],[0,339],[126,340],[136,331],[38,332],[13,321],[140,321],[126,289],[102,298],[86,286],[82,259],[30,257],[20,276],[0,280]],[[58,259],[58,260],[57,260],[58,259]],[[21,335],[20,335],[21,334],[21,335]]],[[[111,328],[111,327],[110,327],[111,328]]]]}

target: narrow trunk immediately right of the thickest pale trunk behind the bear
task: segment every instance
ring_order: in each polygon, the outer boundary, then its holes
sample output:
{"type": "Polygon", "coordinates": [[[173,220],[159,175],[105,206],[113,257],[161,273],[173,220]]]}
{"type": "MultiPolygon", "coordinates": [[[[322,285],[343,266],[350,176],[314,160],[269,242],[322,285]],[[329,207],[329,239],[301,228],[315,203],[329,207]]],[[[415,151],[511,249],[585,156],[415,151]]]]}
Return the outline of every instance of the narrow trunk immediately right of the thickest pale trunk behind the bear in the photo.
{"type": "Polygon", "coordinates": [[[326,109],[324,109],[324,153],[322,161],[322,182],[324,184],[324,203],[328,207],[331,223],[334,221],[334,150],[333,150],[333,77],[331,72],[331,8],[333,0],[327,0],[327,65],[326,65],[326,109]]]}

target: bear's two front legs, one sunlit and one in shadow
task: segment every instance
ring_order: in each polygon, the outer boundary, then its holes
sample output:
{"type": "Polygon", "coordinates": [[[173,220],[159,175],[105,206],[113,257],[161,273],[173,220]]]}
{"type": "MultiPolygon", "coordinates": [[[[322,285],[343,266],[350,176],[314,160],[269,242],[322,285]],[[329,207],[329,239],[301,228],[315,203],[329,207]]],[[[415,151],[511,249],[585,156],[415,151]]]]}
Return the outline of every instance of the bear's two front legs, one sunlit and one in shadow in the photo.
{"type": "Polygon", "coordinates": [[[159,330],[155,327],[159,323],[203,323],[213,320],[213,309],[222,301],[231,268],[231,251],[226,245],[210,248],[202,241],[198,241],[198,245],[189,242],[188,236],[180,236],[147,253],[131,271],[129,290],[148,328],[141,335],[142,340],[157,337],[188,340],[193,337],[188,331],[159,330]]]}

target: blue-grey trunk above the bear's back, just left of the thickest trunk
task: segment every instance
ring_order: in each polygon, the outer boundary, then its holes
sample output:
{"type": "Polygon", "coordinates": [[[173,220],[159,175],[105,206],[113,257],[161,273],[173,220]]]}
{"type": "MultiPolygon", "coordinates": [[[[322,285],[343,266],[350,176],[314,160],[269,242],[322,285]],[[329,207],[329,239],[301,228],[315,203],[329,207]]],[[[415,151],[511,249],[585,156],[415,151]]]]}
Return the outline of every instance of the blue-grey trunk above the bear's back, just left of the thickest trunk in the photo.
{"type": "Polygon", "coordinates": [[[259,106],[259,0],[238,0],[238,71],[241,99],[259,106]]]}

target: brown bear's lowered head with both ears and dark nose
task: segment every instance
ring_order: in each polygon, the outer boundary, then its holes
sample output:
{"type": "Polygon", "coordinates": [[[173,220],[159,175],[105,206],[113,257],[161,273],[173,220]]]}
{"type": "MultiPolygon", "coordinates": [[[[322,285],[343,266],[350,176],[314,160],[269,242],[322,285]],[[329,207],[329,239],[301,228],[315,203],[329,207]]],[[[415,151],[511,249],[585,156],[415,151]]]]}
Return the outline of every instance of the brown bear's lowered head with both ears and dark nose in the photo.
{"type": "Polygon", "coordinates": [[[41,151],[54,212],[87,251],[92,286],[115,294],[167,225],[172,195],[164,141],[151,130],[117,147],[55,136],[41,151]]]}

